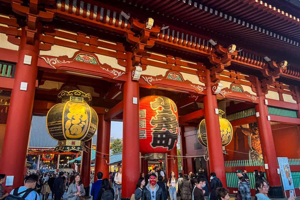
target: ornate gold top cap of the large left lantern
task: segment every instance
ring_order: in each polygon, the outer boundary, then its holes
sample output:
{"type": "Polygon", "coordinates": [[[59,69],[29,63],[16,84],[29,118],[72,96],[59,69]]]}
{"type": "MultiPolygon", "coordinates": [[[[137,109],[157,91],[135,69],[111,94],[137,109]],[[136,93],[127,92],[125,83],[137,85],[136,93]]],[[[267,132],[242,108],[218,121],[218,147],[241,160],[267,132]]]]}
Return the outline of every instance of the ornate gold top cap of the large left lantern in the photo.
{"type": "Polygon", "coordinates": [[[57,96],[58,98],[61,99],[61,103],[67,101],[73,101],[73,102],[85,102],[89,104],[92,100],[92,96],[90,93],[85,93],[80,90],[72,90],[72,91],[62,90],[60,93],[58,93],[57,96]]]}

